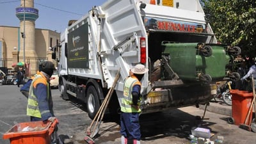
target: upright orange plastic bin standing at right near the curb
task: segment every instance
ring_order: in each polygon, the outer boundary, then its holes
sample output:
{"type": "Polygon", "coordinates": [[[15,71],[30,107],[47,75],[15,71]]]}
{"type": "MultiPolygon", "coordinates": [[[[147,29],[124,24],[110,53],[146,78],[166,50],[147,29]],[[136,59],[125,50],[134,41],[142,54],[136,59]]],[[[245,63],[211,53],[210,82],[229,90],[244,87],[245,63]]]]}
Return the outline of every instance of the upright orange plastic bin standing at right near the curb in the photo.
{"type": "MultiPolygon", "coordinates": [[[[244,124],[246,114],[249,111],[252,104],[253,93],[241,90],[230,90],[232,94],[232,118],[234,118],[234,124],[244,124]]],[[[249,114],[249,119],[246,125],[250,125],[252,122],[252,111],[249,114]]]]}

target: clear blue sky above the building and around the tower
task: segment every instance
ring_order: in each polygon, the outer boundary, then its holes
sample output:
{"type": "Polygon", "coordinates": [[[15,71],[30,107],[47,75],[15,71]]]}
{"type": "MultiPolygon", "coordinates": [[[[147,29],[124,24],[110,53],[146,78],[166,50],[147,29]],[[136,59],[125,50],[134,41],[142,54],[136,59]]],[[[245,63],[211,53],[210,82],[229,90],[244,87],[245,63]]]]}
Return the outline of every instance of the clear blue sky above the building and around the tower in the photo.
{"type": "MultiPolygon", "coordinates": [[[[107,0],[34,0],[34,8],[39,11],[35,27],[61,33],[67,28],[68,20],[80,19],[93,6],[99,6],[105,1],[107,0]]],[[[15,8],[19,6],[20,0],[0,0],[0,26],[20,26],[15,15],[15,8]]]]}

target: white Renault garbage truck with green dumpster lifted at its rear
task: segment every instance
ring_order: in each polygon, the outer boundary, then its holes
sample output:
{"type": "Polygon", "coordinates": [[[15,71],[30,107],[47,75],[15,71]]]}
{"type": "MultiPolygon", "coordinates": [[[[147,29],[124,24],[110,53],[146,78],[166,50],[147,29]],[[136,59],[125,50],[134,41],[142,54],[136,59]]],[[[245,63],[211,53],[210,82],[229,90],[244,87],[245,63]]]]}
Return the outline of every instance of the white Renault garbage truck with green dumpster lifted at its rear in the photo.
{"type": "Polygon", "coordinates": [[[124,79],[138,63],[149,69],[142,113],[205,104],[216,81],[239,79],[229,67],[241,49],[218,44],[198,0],[108,0],[70,20],[52,51],[61,97],[82,100],[90,118],[119,72],[108,106],[118,113],[124,79]]]}

